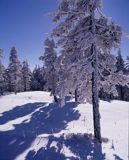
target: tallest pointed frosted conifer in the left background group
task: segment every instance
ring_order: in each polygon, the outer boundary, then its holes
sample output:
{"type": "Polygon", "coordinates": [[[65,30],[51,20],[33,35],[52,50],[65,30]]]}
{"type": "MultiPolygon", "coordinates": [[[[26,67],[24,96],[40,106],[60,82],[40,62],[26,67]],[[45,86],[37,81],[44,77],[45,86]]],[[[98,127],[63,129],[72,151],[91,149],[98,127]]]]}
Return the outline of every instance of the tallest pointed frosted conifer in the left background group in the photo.
{"type": "Polygon", "coordinates": [[[9,66],[7,68],[9,79],[9,90],[15,92],[23,91],[22,82],[22,65],[18,59],[17,51],[15,47],[12,47],[10,51],[9,66]]]}

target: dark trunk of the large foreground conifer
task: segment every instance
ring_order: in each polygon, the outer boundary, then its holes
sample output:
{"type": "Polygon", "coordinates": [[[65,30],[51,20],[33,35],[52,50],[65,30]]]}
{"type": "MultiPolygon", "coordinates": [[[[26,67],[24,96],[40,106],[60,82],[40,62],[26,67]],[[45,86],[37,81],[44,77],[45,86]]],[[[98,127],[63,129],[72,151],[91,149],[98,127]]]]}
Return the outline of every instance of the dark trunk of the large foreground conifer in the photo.
{"type": "MultiPolygon", "coordinates": [[[[91,11],[91,25],[92,34],[95,35],[95,21],[94,11],[91,11]]],[[[93,124],[94,124],[94,136],[98,142],[101,141],[101,127],[100,127],[100,113],[99,113],[99,98],[98,98],[98,55],[96,44],[93,43],[91,47],[91,54],[93,54],[92,67],[94,69],[92,73],[92,104],[93,104],[93,124]]]]}

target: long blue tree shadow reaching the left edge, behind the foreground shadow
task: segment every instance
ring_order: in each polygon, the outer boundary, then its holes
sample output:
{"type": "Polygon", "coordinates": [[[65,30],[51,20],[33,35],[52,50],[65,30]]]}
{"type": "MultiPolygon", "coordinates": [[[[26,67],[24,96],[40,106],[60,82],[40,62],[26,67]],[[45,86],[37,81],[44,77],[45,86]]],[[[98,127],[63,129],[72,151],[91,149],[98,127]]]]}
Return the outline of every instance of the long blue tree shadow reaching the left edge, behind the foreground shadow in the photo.
{"type": "MultiPolygon", "coordinates": [[[[69,122],[80,116],[74,110],[76,106],[73,102],[66,103],[63,108],[55,103],[30,103],[2,113],[0,125],[27,115],[29,117],[20,124],[14,124],[12,130],[0,131],[0,159],[14,160],[31,146],[38,135],[58,133],[65,129],[69,122]]],[[[54,152],[52,148],[50,151],[54,152]]]]}

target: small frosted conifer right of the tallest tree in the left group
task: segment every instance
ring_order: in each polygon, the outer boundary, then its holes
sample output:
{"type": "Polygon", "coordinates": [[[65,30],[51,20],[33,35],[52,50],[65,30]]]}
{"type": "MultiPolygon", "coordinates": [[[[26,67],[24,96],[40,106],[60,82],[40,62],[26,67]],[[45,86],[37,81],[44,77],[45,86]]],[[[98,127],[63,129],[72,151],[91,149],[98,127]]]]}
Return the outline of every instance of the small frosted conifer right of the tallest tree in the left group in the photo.
{"type": "Polygon", "coordinates": [[[32,73],[29,68],[28,62],[24,61],[22,65],[22,81],[23,81],[23,87],[24,91],[30,91],[31,89],[31,77],[32,73]]]}

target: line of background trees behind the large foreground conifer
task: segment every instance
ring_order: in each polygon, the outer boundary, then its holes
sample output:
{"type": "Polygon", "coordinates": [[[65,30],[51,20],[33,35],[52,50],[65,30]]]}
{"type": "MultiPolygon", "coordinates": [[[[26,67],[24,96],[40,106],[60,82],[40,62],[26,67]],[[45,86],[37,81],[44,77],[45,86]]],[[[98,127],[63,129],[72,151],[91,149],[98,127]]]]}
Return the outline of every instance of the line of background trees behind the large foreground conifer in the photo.
{"type": "MultiPolygon", "coordinates": [[[[68,72],[62,75],[60,70],[60,61],[62,56],[57,56],[55,51],[56,45],[53,39],[47,38],[44,42],[45,51],[43,56],[39,59],[43,62],[43,66],[35,66],[33,71],[29,68],[29,64],[26,61],[20,62],[15,47],[11,48],[9,65],[6,68],[2,64],[3,50],[0,49],[0,95],[7,92],[24,92],[24,91],[49,91],[57,101],[57,92],[61,91],[65,78],[70,77],[68,72]],[[65,76],[65,77],[62,77],[65,76]]],[[[116,59],[116,72],[122,72],[124,75],[129,75],[129,57],[124,61],[121,51],[118,50],[116,59]]],[[[63,72],[63,70],[62,70],[63,72]]],[[[71,73],[72,74],[72,73],[71,73]]],[[[106,71],[103,73],[107,75],[106,71]]],[[[79,86],[78,86],[79,87],[79,86]]],[[[99,98],[103,100],[118,99],[123,101],[129,101],[129,87],[116,84],[117,96],[112,93],[106,93],[103,88],[99,91],[99,98]]],[[[65,91],[65,89],[63,89],[65,91]]],[[[62,92],[63,92],[62,90],[62,92]]],[[[78,88],[79,90],[79,88],[78,88]]],[[[69,92],[71,93],[71,92],[69,92]]],[[[62,93],[64,94],[64,93],[62,93]]],[[[73,93],[75,101],[78,101],[79,92],[77,90],[73,93]]]]}

